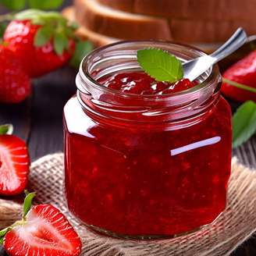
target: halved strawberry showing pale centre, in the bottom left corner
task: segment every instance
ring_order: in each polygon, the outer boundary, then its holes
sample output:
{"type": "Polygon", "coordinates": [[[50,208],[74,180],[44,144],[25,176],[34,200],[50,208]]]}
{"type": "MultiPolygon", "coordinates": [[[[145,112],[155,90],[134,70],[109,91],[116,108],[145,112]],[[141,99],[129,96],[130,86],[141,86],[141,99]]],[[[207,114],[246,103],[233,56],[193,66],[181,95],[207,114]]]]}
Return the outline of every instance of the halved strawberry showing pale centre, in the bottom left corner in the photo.
{"type": "Polygon", "coordinates": [[[12,228],[4,238],[5,251],[11,256],[76,256],[81,252],[80,238],[52,205],[35,206],[21,225],[12,228]]]}

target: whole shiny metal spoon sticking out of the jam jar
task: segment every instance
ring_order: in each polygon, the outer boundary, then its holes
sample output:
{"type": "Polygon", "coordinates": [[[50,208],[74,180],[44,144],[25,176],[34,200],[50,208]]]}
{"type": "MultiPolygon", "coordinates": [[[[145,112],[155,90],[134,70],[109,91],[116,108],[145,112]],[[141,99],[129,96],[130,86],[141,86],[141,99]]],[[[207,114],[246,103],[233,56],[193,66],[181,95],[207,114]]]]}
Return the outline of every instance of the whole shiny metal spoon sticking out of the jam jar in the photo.
{"type": "Polygon", "coordinates": [[[244,42],[247,41],[247,34],[243,28],[239,28],[233,34],[232,37],[226,41],[218,50],[213,52],[211,55],[204,55],[197,59],[191,59],[188,62],[182,63],[182,69],[184,77],[190,81],[195,80],[201,73],[204,73],[210,66],[219,62],[219,60],[225,58],[227,55],[235,52],[240,48],[244,42]]]}

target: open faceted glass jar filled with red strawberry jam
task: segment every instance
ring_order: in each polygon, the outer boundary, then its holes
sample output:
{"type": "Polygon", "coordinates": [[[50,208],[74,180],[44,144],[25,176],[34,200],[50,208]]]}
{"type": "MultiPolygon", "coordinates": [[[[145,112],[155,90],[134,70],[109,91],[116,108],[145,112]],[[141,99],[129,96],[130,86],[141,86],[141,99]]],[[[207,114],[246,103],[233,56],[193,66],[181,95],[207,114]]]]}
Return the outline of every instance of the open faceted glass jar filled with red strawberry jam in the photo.
{"type": "Polygon", "coordinates": [[[98,83],[141,72],[137,50],[162,48],[181,61],[204,55],[185,44],[123,41],[91,52],[64,108],[69,210],[98,231],[126,238],[190,233],[226,207],[231,112],[217,65],[187,91],[124,94],[98,83]]]}

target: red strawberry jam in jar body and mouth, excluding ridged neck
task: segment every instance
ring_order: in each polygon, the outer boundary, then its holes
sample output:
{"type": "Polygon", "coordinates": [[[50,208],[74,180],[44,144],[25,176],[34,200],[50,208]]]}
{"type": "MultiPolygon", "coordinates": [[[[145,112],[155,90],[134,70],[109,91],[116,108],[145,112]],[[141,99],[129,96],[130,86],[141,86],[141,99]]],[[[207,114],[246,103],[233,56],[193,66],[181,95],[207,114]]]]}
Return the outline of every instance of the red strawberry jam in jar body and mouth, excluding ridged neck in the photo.
{"type": "MultiPolygon", "coordinates": [[[[141,74],[135,83],[136,73],[126,76],[101,83],[136,94],[166,87],[141,74]]],[[[168,236],[207,225],[226,207],[231,120],[222,97],[200,122],[171,130],[99,124],[76,97],[64,108],[64,123],[66,200],[87,224],[121,235],[168,236]]]]}

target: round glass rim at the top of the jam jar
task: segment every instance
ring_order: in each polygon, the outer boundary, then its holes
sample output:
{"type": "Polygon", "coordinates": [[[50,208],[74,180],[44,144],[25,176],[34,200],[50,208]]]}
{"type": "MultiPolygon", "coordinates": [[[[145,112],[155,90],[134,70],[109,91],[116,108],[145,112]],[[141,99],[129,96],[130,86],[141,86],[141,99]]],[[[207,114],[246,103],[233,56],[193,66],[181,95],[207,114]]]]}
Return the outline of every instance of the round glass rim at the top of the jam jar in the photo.
{"type": "MultiPolygon", "coordinates": [[[[176,93],[170,93],[170,94],[132,94],[126,92],[125,94],[122,91],[118,91],[109,87],[105,87],[103,84],[98,83],[97,80],[94,80],[94,78],[91,76],[91,73],[88,70],[88,66],[86,65],[87,62],[91,61],[91,59],[94,57],[94,55],[98,55],[99,52],[104,52],[106,50],[115,50],[116,46],[130,46],[133,44],[152,44],[151,47],[154,47],[154,44],[172,44],[176,47],[180,47],[183,49],[190,49],[193,50],[195,53],[197,53],[198,57],[206,55],[205,52],[203,52],[201,49],[196,48],[190,44],[184,44],[180,42],[175,41],[165,41],[165,40],[127,40],[127,41],[119,41],[112,44],[107,44],[104,46],[101,46],[99,48],[94,49],[92,52],[90,52],[88,55],[84,57],[84,59],[80,63],[80,69],[79,69],[79,75],[82,78],[82,80],[86,80],[87,83],[90,84],[92,87],[96,87],[97,89],[101,89],[103,91],[106,91],[107,93],[114,94],[121,98],[134,98],[134,99],[141,99],[147,101],[158,101],[158,100],[165,100],[167,98],[172,98],[172,100],[183,98],[183,97],[189,97],[190,95],[194,93],[202,93],[203,91],[206,91],[208,87],[211,87],[212,81],[217,80],[219,77],[219,66],[217,63],[212,65],[209,69],[207,69],[204,73],[201,74],[203,76],[205,73],[209,73],[207,78],[202,80],[199,84],[197,84],[194,87],[191,87],[184,91],[179,91],[176,93]],[[210,70],[210,71],[209,71],[210,70]]],[[[192,59],[192,58],[191,58],[192,59]]],[[[80,91],[82,94],[84,93],[84,87],[78,87],[78,91],[80,91]]],[[[85,89],[85,94],[87,94],[87,90],[85,89]]]]}

